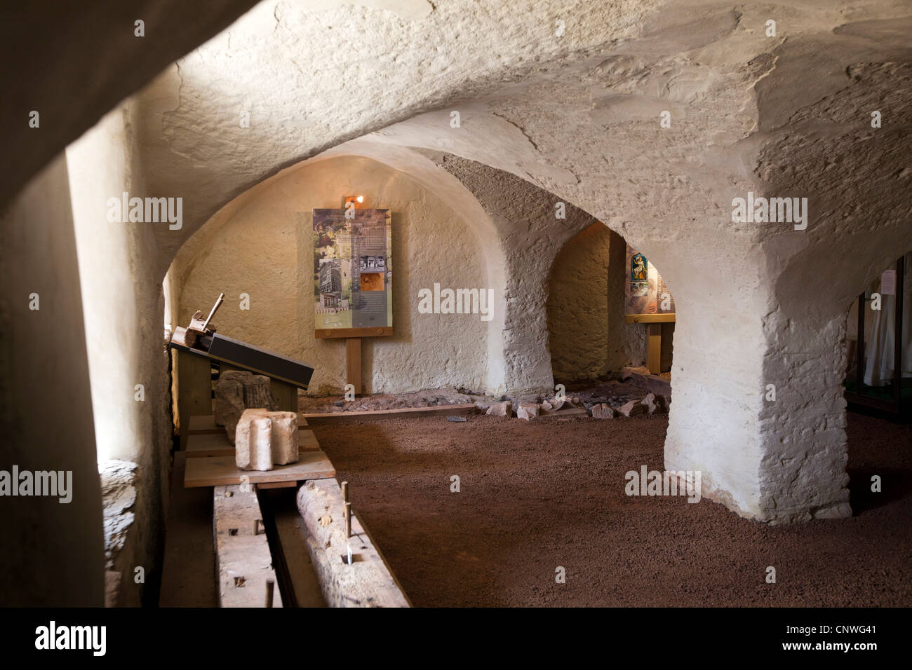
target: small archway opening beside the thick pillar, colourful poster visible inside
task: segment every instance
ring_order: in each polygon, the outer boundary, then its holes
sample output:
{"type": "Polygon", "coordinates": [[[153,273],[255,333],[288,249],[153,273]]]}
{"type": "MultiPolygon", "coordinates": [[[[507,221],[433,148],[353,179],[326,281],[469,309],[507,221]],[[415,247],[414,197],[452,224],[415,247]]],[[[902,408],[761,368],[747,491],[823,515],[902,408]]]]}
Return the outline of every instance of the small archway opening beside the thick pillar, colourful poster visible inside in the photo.
{"type": "Polygon", "coordinates": [[[616,408],[653,393],[667,409],[674,299],[617,232],[594,222],[557,253],[547,320],[555,384],[616,408]]]}

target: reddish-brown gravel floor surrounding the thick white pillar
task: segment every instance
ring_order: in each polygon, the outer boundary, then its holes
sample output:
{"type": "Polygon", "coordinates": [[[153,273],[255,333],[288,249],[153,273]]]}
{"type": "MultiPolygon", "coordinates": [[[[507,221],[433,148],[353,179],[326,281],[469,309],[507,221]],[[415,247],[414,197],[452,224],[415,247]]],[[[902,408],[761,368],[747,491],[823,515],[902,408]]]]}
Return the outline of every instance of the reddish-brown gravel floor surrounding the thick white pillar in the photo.
{"type": "Polygon", "coordinates": [[[912,604],[912,427],[850,414],[855,517],[785,527],[627,497],[627,470],[662,469],[667,427],[479,415],[314,430],[416,606],[912,604]]]}

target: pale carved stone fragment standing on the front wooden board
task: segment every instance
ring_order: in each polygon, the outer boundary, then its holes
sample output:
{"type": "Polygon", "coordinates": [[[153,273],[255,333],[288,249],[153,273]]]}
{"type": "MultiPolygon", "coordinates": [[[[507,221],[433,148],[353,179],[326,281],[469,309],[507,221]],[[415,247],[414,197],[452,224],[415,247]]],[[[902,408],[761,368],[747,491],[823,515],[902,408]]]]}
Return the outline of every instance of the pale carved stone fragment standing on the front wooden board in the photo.
{"type": "Polygon", "coordinates": [[[297,415],[245,409],[237,422],[234,461],[244,470],[271,470],[297,462],[297,415]]]}

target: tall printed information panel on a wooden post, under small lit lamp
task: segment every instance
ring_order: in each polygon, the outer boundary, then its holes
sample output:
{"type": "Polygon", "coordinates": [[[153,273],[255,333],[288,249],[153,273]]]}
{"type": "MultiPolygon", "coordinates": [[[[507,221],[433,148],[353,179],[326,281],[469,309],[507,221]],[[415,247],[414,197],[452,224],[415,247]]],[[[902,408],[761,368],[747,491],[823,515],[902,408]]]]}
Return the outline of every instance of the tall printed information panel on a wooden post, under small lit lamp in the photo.
{"type": "MultiPolygon", "coordinates": [[[[314,210],[318,337],[393,325],[389,210],[314,210]],[[350,217],[350,218],[349,218],[350,217]]],[[[383,335],[391,335],[382,333],[383,335]]]]}

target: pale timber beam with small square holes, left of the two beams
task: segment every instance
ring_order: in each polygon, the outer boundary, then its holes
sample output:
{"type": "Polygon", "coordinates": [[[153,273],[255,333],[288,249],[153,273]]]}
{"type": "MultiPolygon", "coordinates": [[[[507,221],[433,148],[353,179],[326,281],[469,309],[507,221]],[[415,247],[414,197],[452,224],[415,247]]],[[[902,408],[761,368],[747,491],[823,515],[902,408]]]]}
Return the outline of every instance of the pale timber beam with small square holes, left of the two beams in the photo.
{"type": "MultiPolygon", "coordinates": [[[[208,459],[191,459],[200,462],[208,459]]],[[[266,582],[277,580],[273,556],[262,531],[263,514],[256,491],[249,486],[212,489],[212,533],[221,607],[265,607],[266,582]],[[257,530],[260,528],[261,530],[257,530]]],[[[282,596],[273,589],[273,607],[282,596]]]]}

